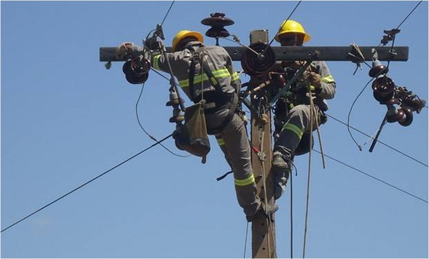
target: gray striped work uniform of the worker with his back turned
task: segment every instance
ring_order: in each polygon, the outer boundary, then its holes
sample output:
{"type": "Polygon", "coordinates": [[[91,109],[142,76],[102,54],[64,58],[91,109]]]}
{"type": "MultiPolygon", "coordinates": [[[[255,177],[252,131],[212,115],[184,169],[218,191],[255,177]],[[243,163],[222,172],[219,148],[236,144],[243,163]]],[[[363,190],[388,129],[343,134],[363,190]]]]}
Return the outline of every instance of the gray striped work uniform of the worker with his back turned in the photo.
{"type": "MultiPolygon", "coordinates": [[[[213,110],[216,106],[221,105],[214,100],[216,98],[213,98],[212,95],[216,92],[215,84],[212,83],[213,79],[209,79],[208,75],[203,73],[204,69],[201,68],[201,64],[209,66],[225,95],[232,96],[240,90],[239,76],[232,67],[229,54],[222,47],[204,46],[201,42],[192,41],[186,45],[183,51],[167,53],[167,58],[179,85],[190,99],[194,97],[193,101],[198,102],[202,99],[201,94],[203,93],[203,98],[207,101],[205,108],[213,110]],[[189,48],[192,48],[193,51],[189,48]],[[194,95],[190,92],[189,83],[193,52],[199,52],[201,57],[205,59],[205,62],[197,63],[195,67],[194,95]]],[[[151,55],[151,65],[155,69],[169,72],[164,55],[151,55]]],[[[230,109],[235,109],[235,107],[230,109]]],[[[206,113],[206,124],[209,130],[218,128],[229,113],[229,109],[215,109],[214,111],[213,113],[206,113]]],[[[256,184],[250,161],[250,146],[243,121],[234,114],[230,122],[215,133],[215,137],[234,173],[238,204],[243,208],[246,216],[252,216],[260,207],[260,199],[256,194],[256,184]]]]}

